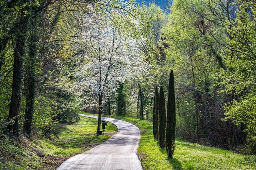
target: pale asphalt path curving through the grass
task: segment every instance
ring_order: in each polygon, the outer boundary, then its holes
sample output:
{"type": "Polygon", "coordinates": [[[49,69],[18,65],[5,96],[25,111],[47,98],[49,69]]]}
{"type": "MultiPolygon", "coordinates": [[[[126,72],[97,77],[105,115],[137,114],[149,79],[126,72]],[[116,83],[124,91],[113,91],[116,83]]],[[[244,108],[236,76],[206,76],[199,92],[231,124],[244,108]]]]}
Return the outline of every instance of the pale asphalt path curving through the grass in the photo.
{"type": "MultiPolygon", "coordinates": [[[[97,116],[80,115],[98,119],[97,116]]],[[[118,132],[95,148],[69,158],[58,170],[142,170],[136,154],[140,141],[139,128],[118,119],[102,117],[102,120],[116,125],[118,132]]]]}

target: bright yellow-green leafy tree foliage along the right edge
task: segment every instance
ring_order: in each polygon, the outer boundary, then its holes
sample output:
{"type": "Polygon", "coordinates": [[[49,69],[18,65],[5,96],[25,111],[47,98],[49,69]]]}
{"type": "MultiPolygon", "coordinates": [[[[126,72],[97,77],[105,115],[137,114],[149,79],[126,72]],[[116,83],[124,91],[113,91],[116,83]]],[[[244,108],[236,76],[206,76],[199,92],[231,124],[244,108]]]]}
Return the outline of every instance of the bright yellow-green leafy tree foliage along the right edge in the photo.
{"type": "Polygon", "coordinates": [[[226,88],[221,92],[232,96],[225,105],[225,120],[232,120],[246,134],[246,152],[256,153],[255,120],[255,11],[252,1],[237,0],[236,18],[226,24],[230,38],[227,39],[228,72],[222,74],[222,83],[226,88]]]}

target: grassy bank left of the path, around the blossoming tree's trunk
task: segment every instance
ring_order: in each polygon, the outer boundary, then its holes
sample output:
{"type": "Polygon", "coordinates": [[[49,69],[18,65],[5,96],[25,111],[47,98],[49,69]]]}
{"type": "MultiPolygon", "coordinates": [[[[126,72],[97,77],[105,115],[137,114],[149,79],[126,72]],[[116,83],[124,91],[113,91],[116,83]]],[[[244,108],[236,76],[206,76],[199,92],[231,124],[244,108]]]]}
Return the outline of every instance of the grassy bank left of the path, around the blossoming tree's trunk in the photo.
{"type": "Polygon", "coordinates": [[[117,131],[108,123],[101,136],[96,136],[98,119],[81,117],[73,125],[58,124],[51,139],[26,138],[22,143],[0,138],[0,169],[56,169],[62,162],[108,140],[117,131]]]}

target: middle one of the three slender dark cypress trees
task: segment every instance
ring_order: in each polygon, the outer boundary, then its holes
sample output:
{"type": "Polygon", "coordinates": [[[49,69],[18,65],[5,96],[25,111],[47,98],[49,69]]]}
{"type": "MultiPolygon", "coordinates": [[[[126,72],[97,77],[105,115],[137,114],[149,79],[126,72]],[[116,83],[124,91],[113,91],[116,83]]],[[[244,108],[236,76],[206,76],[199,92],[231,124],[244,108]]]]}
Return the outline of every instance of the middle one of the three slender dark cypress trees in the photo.
{"type": "Polygon", "coordinates": [[[166,127],[166,112],[165,112],[165,100],[163,86],[159,91],[159,128],[158,128],[158,142],[160,148],[164,148],[165,140],[165,127],[166,127]]]}

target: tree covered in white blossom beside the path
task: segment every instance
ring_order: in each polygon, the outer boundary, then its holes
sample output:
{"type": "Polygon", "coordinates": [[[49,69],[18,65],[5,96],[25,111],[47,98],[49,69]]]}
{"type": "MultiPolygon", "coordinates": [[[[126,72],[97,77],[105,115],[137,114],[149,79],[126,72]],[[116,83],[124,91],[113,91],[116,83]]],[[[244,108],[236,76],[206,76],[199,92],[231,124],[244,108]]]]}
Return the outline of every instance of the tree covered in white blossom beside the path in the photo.
{"type": "Polygon", "coordinates": [[[62,88],[80,97],[84,107],[98,106],[99,134],[103,104],[120,83],[135,78],[146,66],[138,40],[121,35],[106,17],[86,20],[76,46],[78,52],[72,56],[76,67],[62,76],[62,88]]]}

